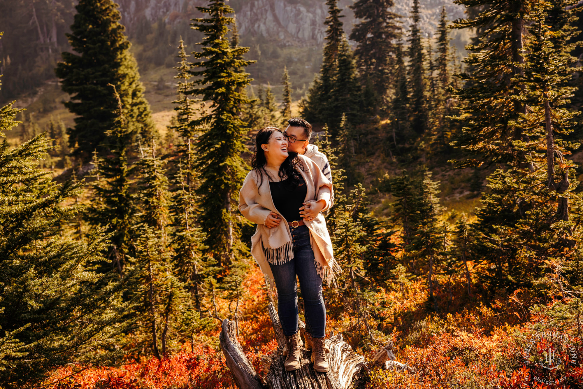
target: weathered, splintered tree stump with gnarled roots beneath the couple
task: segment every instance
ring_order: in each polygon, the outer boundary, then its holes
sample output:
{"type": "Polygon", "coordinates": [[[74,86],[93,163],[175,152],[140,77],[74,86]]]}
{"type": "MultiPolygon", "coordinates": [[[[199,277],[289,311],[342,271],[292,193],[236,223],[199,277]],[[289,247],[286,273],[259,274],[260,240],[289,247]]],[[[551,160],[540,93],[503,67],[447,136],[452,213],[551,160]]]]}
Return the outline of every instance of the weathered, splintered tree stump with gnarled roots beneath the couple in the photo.
{"type": "MultiPolygon", "coordinates": [[[[342,339],[342,335],[332,335],[326,339],[326,345],[330,353],[326,359],[330,365],[328,373],[318,373],[314,371],[310,360],[311,351],[301,350],[300,369],[294,372],[287,372],[283,362],[283,346],[285,345],[285,335],[283,335],[282,325],[279,322],[278,313],[269,303],[269,317],[271,317],[275,338],[278,341],[278,349],[272,355],[261,356],[268,374],[263,380],[259,379],[254,367],[245,357],[243,348],[235,336],[235,325],[233,321],[225,319],[223,321],[222,332],[220,334],[220,346],[227,360],[227,366],[233,373],[235,383],[240,389],[349,389],[357,373],[361,369],[370,371],[371,367],[381,369],[408,369],[407,365],[396,362],[392,353],[392,342],[381,349],[377,356],[370,362],[370,367],[365,362],[364,357],[353,351],[352,347],[342,339]],[[377,358],[378,357],[378,358],[377,358]]],[[[305,331],[304,323],[300,322],[300,332],[305,331]]]]}

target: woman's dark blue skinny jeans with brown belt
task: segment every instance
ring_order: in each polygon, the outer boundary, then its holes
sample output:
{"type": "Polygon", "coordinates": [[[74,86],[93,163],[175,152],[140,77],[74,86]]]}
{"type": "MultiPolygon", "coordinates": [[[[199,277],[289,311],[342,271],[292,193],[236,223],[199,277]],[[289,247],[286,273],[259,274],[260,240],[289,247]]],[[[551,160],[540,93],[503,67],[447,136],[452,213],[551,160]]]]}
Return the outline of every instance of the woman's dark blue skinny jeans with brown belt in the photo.
{"type": "Polygon", "coordinates": [[[269,264],[278,287],[278,314],[283,334],[289,337],[298,330],[297,276],[304,299],[306,327],[312,337],[323,338],[326,330],[326,306],[322,297],[322,278],[316,271],[314,251],[310,246],[310,230],[307,226],[289,228],[293,239],[294,259],[281,265],[269,264]]]}

